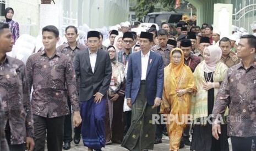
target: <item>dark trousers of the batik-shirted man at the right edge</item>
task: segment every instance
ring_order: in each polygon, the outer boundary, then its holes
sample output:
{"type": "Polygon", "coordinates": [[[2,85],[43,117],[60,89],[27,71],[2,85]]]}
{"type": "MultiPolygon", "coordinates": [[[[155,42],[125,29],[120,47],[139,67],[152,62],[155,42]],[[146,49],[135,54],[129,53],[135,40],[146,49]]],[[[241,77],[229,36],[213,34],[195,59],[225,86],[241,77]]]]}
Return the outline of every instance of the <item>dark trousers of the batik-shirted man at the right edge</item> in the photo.
{"type": "Polygon", "coordinates": [[[231,136],[231,144],[232,144],[232,150],[233,151],[250,151],[252,147],[252,140],[256,139],[256,136],[254,137],[234,137],[231,136]]]}

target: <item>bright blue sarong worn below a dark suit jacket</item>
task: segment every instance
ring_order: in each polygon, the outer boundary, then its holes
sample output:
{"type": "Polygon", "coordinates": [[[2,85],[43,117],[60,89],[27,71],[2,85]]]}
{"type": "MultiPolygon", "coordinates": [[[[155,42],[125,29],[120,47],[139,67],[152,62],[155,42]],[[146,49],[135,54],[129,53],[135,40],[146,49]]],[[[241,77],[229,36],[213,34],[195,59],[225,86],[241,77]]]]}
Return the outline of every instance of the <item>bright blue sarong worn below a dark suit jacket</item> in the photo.
{"type": "Polygon", "coordinates": [[[81,135],[84,146],[91,149],[105,147],[105,107],[106,98],[100,103],[94,102],[94,97],[89,101],[80,102],[80,114],[82,118],[81,135]]]}

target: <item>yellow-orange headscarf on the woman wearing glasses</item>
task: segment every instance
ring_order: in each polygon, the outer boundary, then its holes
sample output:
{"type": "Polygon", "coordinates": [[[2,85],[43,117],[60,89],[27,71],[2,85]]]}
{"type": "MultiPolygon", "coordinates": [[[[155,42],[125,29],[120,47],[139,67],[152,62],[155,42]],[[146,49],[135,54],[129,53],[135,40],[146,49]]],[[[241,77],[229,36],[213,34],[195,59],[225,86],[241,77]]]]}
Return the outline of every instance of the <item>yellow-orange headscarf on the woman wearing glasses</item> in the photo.
{"type": "Polygon", "coordinates": [[[171,51],[171,54],[170,54],[170,58],[171,58],[171,66],[170,66],[170,69],[173,71],[173,73],[175,74],[175,77],[178,77],[180,74],[181,74],[181,69],[184,65],[184,54],[183,54],[183,51],[179,48],[175,48],[175,49],[172,49],[171,51]],[[178,65],[175,65],[173,63],[173,59],[172,59],[172,53],[173,51],[179,51],[181,52],[181,62],[178,63],[178,65]]]}

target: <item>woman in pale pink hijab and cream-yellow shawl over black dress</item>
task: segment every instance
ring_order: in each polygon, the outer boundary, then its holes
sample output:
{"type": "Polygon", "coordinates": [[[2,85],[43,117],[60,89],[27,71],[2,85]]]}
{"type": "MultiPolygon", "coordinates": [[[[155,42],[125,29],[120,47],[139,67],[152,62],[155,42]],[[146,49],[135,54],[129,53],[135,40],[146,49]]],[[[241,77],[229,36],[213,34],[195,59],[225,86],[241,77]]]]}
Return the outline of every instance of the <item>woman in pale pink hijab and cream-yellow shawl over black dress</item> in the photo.
{"type": "MultiPolygon", "coordinates": [[[[190,114],[193,115],[193,136],[190,150],[229,150],[227,125],[221,125],[220,139],[216,140],[211,132],[211,113],[215,96],[224,79],[227,66],[220,62],[222,51],[216,45],[204,49],[204,61],[194,71],[197,92],[192,97],[190,114]],[[206,120],[209,119],[209,121],[206,120]]],[[[225,113],[227,115],[227,111],[225,113]]],[[[225,117],[222,118],[225,122],[225,117]]]]}

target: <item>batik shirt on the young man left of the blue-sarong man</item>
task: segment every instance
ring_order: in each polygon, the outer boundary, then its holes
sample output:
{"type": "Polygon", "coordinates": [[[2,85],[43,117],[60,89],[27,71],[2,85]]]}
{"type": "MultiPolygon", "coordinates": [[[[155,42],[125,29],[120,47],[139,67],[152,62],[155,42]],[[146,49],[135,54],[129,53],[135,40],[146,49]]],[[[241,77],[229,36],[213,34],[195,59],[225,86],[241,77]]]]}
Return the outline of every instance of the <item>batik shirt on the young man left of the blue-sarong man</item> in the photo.
{"type": "Polygon", "coordinates": [[[45,50],[26,62],[29,88],[33,86],[32,111],[41,117],[55,118],[69,114],[67,96],[74,111],[79,111],[72,60],[59,52],[49,58],[45,50]]]}

